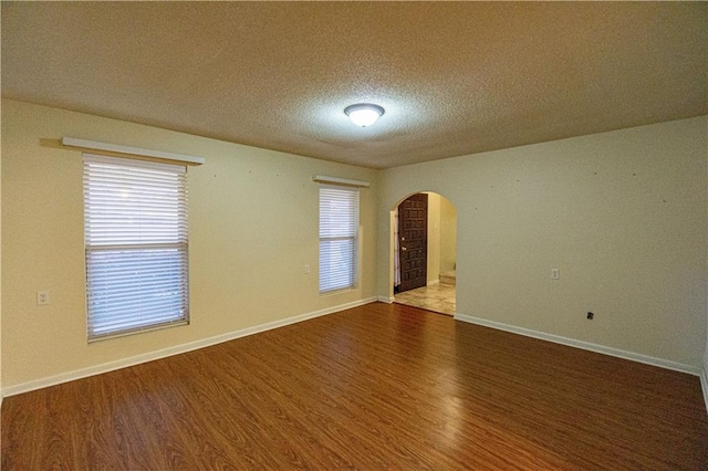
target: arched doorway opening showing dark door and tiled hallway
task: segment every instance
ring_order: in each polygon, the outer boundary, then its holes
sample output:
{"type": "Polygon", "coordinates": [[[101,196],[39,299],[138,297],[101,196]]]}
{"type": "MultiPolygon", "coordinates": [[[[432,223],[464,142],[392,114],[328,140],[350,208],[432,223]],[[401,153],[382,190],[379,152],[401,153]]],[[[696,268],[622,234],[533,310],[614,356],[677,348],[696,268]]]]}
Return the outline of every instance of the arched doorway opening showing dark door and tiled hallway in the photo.
{"type": "Polygon", "coordinates": [[[394,301],[447,315],[456,308],[457,209],[418,192],[392,210],[394,301]]]}

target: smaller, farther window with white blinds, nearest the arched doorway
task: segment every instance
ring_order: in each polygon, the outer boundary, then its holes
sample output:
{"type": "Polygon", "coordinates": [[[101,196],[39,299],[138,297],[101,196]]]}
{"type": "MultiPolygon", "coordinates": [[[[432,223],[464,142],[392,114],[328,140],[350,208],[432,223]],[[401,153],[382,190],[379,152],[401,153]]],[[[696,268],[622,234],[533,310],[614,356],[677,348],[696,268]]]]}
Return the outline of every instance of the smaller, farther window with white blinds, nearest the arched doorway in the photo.
{"type": "Polygon", "coordinates": [[[358,189],[320,187],[320,293],[356,285],[358,189]]]}

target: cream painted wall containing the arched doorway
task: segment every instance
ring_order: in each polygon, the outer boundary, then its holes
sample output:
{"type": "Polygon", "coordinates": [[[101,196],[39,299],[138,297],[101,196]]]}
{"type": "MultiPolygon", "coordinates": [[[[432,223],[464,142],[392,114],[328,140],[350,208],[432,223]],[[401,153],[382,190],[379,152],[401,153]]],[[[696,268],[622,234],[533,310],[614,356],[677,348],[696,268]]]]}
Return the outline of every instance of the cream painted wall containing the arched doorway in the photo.
{"type": "Polygon", "coordinates": [[[458,313],[698,371],[707,119],[383,170],[379,293],[391,293],[388,211],[435,191],[457,208],[458,313]]]}

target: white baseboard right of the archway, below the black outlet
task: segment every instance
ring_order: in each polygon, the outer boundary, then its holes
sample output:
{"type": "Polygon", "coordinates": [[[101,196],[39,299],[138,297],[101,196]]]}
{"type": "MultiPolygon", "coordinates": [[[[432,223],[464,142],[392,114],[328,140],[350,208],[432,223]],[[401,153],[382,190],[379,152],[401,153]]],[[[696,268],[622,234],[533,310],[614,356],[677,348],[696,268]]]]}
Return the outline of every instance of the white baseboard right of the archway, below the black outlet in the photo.
{"type": "MultiPolygon", "coordinates": [[[[477,324],[485,327],[491,327],[499,331],[510,332],[512,334],[524,335],[527,337],[539,338],[541,341],[553,342],[555,344],[568,345],[571,347],[582,348],[590,352],[596,352],[618,358],[629,359],[632,362],[644,363],[652,366],[658,366],[660,368],[673,369],[675,371],[688,373],[690,375],[699,376],[700,368],[691,365],[685,365],[683,363],[670,362],[667,359],[655,358],[647,355],[642,355],[633,352],[626,352],[618,348],[606,347],[604,345],[597,345],[590,342],[576,341],[574,338],[562,337],[560,335],[546,334],[544,332],[532,331],[523,327],[516,327],[509,324],[502,324],[500,322],[488,321],[486,318],[475,317],[466,314],[455,314],[456,321],[462,321],[470,324],[477,324]]],[[[706,388],[704,388],[705,394],[706,388]]]]}

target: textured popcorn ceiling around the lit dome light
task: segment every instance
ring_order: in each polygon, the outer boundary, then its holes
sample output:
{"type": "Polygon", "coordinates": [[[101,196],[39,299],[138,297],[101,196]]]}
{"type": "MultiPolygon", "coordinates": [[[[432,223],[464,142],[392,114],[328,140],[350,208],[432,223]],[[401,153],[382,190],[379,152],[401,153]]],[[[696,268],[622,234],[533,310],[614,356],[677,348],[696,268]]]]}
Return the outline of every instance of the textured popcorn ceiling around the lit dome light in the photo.
{"type": "Polygon", "coordinates": [[[706,2],[2,2],[3,97],[375,168],[708,114],[707,77],[706,2]]]}

